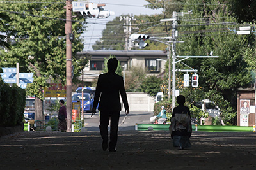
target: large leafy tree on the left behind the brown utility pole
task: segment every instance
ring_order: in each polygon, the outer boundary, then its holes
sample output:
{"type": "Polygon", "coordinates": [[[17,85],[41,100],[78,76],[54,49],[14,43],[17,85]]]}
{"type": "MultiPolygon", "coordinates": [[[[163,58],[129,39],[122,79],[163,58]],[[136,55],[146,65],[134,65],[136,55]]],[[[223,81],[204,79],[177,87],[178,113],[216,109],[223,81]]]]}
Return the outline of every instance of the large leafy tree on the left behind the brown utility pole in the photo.
{"type": "MultiPolygon", "coordinates": [[[[15,45],[8,52],[1,52],[0,66],[15,67],[19,62],[20,72],[33,72],[34,82],[27,87],[27,94],[35,96],[36,119],[42,120],[43,88],[47,81],[66,82],[66,56],[65,56],[65,3],[57,0],[52,3],[38,3],[36,0],[29,2],[1,3],[1,9],[9,13],[10,21],[3,20],[3,32],[8,36],[15,36],[15,45]],[[58,3],[57,3],[58,2],[58,3]]],[[[81,70],[81,59],[76,58],[77,52],[83,49],[82,40],[83,18],[73,18],[72,32],[75,39],[72,43],[72,64],[74,79],[81,70]]]]}

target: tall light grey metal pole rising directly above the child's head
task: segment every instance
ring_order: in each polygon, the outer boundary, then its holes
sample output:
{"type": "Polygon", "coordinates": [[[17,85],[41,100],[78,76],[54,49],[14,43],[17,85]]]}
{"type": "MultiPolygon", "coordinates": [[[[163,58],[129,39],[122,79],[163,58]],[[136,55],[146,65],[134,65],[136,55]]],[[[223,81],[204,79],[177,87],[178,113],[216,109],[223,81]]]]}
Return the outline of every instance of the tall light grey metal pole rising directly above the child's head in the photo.
{"type": "Polygon", "coordinates": [[[175,18],[175,20],[173,20],[172,23],[172,110],[173,108],[175,108],[175,90],[176,90],[176,74],[175,74],[175,62],[176,62],[176,26],[177,26],[177,20],[176,20],[176,12],[173,12],[173,18],[175,18]]]}

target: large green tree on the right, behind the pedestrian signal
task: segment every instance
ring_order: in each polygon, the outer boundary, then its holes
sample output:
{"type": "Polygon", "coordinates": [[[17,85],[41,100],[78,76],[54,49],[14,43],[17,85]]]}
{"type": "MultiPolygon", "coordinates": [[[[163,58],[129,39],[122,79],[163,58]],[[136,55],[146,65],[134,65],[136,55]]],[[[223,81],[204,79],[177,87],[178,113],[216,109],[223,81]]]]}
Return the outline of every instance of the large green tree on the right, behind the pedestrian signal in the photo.
{"type": "MultiPolygon", "coordinates": [[[[196,1],[188,1],[194,4],[196,1]]],[[[218,1],[204,1],[205,4],[218,4],[218,1]]],[[[188,66],[198,69],[199,85],[204,91],[204,98],[214,101],[221,109],[221,117],[226,124],[236,124],[237,91],[239,87],[252,85],[247,64],[241,55],[241,47],[250,43],[250,37],[237,36],[232,31],[236,27],[236,19],[229,17],[230,5],[223,4],[184,6],[184,11],[193,10],[190,15],[182,17],[179,25],[179,39],[185,43],[177,45],[178,55],[209,55],[214,51],[218,59],[187,59],[188,66]],[[232,25],[234,23],[234,25],[232,25]],[[195,25],[195,26],[189,26],[195,25]]],[[[177,64],[177,69],[182,69],[177,64]]],[[[182,92],[191,89],[185,88],[182,92]]],[[[199,90],[199,89],[198,89],[199,90]]],[[[195,91],[196,92],[196,91],[195,91]]],[[[186,93],[186,92],[185,92],[186,93]]],[[[191,94],[188,93],[188,98],[191,94]]],[[[193,99],[192,99],[193,100],[193,99]]]]}

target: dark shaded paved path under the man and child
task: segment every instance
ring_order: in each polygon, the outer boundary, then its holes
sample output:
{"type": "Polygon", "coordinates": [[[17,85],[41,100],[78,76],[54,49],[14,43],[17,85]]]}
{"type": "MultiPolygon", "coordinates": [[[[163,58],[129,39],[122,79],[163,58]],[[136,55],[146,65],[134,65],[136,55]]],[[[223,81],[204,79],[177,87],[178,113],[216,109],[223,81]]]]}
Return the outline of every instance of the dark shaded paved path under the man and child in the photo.
{"type": "Polygon", "coordinates": [[[191,143],[120,131],[117,152],[104,152],[99,132],[22,132],[0,138],[0,169],[256,169],[256,133],[193,132],[191,143]]]}

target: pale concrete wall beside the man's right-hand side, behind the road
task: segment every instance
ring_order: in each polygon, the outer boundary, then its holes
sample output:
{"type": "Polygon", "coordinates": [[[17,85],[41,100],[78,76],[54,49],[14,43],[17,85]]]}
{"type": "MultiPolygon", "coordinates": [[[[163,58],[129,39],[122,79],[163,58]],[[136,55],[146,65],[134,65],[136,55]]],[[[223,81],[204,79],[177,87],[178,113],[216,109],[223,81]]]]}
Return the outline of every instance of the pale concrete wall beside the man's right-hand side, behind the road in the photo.
{"type": "MultiPolygon", "coordinates": [[[[128,92],[127,99],[130,111],[154,111],[154,97],[142,92],[128,92]]],[[[124,111],[124,106],[122,108],[124,111]]]]}

